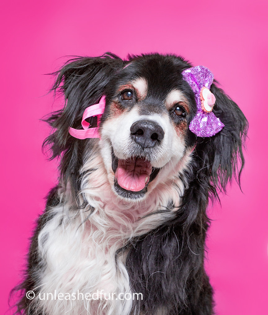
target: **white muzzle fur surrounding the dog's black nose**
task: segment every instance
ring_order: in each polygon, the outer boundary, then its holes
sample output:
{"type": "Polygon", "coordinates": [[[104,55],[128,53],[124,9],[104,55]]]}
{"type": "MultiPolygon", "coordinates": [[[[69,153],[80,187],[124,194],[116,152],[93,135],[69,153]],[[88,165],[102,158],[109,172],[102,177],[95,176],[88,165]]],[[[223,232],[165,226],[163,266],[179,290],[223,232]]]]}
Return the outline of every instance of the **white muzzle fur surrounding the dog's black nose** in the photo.
{"type": "Polygon", "coordinates": [[[183,162],[185,141],[183,137],[178,136],[173,123],[170,122],[168,113],[140,115],[137,107],[133,107],[129,112],[108,119],[102,125],[99,144],[108,180],[112,187],[114,186],[112,151],[117,158],[122,160],[137,154],[137,143],[131,138],[130,128],[133,123],[139,120],[150,120],[157,123],[164,131],[164,138],[161,143],[152,148],[152,151],[147,155],[152,167],[161,169],[159,175],[149,183],[147,194],[149,195],[161,183],[170,180],[169,184],[172,184],[174,176],[176,177],[185,168],[185,162],[183,162]]]}

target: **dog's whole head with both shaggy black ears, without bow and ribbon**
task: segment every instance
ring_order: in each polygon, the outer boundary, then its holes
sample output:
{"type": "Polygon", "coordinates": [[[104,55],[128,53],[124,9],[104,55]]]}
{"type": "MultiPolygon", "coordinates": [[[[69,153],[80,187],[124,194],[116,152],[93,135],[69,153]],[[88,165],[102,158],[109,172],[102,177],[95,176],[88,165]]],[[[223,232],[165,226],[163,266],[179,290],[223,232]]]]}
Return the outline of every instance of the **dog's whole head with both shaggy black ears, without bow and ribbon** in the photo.
{"type": "MultiPolygon", "coordinates": [[[[190,131],[197,113],[196,95],[183,76],[190,67],[174,55],[121,60],[105,54],[71,60],[61,68],[54,89],[63,83],[66,106],[48,119],[56,131],[46,143],[52,144],[53,157],[64,152],[61,174],[71,181],[74,192],[79,191],[79,170],[90,141],[99,141],[107,179],[120,198],[144,199],[158,185],[172,184],[186,169],[191,170],[190,180],[207,177],[207,191],[218,183],[225,187],[236,169],[237,152],[243,163],[241,139],[247,122],[238,106],[212,84],[213,113],[225,127],[210,137],[190,131]],[[79,128],[85,108],[102,95],[100,140],[69,135],[69,126],[79,128]]],[[[96,118],[89,122],[96,127],[96,118]]]]}

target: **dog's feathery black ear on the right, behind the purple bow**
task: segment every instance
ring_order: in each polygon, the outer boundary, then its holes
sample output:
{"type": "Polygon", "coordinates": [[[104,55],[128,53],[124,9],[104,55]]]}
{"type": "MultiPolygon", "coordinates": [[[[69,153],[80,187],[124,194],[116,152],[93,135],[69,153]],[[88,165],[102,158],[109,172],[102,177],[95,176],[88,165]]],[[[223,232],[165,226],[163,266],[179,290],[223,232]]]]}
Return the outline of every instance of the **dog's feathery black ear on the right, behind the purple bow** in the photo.
{"type": "Polygon", "coordinates": [[[210,91],[216,97],[213,112],[224,123],[224,128],[212,137],[197,139],[195,158],[198,160],[197,178],[207,182],[210,191],[217,194],[217,189],[225,191],[232,176],[240,185],[244,166],[242,147],[248,121],[236,103],[215,83],[211,85],[210,91]]]}

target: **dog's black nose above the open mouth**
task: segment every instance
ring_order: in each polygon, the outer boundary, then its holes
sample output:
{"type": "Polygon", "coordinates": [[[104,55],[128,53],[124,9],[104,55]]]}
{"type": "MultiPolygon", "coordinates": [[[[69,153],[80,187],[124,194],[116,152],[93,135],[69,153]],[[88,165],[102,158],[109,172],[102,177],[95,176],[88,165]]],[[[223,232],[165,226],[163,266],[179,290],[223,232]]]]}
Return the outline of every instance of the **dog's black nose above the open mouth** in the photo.
{"type": "Polygon", "coordinates": [[[164,138],[162,127],[150,120],[138,120],[130,127],[131,137],[144,148],[152,148],[164,138]]]}

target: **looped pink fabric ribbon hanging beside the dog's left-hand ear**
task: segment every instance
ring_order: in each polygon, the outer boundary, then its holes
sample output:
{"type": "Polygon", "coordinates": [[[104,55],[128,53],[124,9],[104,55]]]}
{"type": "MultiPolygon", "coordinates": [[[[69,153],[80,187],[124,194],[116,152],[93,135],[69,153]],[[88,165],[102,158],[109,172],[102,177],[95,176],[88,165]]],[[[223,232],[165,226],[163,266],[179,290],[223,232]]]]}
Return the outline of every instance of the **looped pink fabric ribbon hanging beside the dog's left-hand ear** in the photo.
{"type": "Polygon", "coordinates": [[[69,134],[77,139],[100,138],[98,129],[101,122],[101,116],[105,109],[105,95],[100,99],[100,102],[91,105],[84,110],[81,125],[83,129],[74,129],[69,127],[69,134]],[[89,117],[97,116],[97,127],[90,128],[90,123],[86,121],[89,117]]]}

